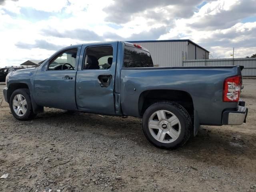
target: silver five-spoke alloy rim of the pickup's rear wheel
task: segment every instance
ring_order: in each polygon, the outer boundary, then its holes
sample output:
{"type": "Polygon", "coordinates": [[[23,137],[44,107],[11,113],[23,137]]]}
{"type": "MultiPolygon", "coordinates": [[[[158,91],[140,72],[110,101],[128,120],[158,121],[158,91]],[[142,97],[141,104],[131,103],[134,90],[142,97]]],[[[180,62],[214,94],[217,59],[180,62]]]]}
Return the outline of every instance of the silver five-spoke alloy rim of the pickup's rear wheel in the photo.
{"type": "Polygon", "coordinates": [[[180,136],[180,121],[168,110],[154,112],[148,120],[150,134],[161,143],[172,143],[180,136]]]}

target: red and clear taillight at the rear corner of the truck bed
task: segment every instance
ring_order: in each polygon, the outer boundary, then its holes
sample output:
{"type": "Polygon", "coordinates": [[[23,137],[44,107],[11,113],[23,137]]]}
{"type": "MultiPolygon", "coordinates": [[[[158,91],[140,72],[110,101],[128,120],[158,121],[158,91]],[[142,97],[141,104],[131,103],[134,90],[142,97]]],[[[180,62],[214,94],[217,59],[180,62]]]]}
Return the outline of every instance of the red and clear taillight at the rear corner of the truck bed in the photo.
{"type": "Polygon", "coordinates": [[[238,102],[241,89],[241,76],[232,76],[224,80],[223,102],[238,102]]]}

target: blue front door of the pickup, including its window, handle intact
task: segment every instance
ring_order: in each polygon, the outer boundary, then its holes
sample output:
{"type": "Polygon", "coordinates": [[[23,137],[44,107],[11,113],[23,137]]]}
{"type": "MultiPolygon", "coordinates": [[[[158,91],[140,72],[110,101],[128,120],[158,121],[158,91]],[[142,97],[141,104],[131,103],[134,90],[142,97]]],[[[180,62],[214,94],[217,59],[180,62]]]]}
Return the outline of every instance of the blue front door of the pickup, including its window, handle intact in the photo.
{"type": "Polygon", "coordinates": [[[34,100],[38,105],[76,110],[75,84],[79,48],[69,48],[56,54],[34,80],[34,100]]]}

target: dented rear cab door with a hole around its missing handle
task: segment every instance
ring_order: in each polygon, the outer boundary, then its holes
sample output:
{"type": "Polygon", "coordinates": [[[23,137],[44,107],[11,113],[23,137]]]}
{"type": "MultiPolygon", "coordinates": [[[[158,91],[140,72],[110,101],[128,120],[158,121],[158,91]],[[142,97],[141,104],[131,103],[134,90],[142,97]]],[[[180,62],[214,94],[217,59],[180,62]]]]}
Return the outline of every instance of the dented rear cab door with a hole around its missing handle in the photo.
{"type": "Polygon", "coordinates": [[[115,114],[114,79],[117,42],[83,45],[83,60],[76,76],[76,103],[79,110],[115,114]]]}

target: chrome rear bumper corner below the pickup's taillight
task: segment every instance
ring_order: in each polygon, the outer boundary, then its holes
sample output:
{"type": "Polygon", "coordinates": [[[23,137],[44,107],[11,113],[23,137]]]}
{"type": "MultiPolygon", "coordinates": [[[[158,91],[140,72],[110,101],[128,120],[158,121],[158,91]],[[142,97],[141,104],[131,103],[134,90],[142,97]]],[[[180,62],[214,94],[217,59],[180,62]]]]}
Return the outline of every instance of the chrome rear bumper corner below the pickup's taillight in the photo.
{"type": "Polygon", "coordinates": [[[241,125],[246,122],[248,108],[238,105],[236,111],[226,110],[222,114],[223,125],[241,125]]]}

